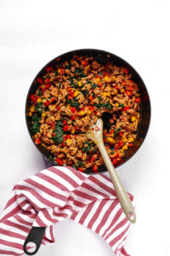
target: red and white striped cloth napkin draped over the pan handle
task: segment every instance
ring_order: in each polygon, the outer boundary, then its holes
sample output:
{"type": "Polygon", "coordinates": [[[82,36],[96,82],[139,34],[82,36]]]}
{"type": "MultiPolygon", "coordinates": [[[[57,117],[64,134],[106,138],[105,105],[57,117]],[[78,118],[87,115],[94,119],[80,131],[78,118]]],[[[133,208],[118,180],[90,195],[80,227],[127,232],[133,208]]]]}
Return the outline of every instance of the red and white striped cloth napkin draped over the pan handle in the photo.
{"type": "MultiPolygon", "coordinates": [[[[130,195],[133,201],[133,195],[130,195]]],[[[22,255],[32,225],[47,227],[42,244],[54,242],[54,224],[71,218],[102,236],[116,256],[126,255],[130,222],[108,173],[87,175],[49,167],[14,186],[0,220],[0,254],[22,255]]]]}

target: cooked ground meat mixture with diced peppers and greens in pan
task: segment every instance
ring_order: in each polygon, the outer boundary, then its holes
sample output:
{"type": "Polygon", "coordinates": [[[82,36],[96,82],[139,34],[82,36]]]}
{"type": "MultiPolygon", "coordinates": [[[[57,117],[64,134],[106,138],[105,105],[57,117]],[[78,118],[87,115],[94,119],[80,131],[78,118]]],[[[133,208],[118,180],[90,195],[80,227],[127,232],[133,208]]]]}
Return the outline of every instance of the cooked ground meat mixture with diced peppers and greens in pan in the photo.
{"type": "Polygon", "coordinates": [[[113,165],[133,147],[140,96],[126,68],[74,55],[62,63],[58,58],[35,83],[38,87],[31,95],[28,113],[33,139],[47,148],[57,165],[98,172],[104,161],[86,131],[100,117],[107,120],[103,136],[113,165]]]}

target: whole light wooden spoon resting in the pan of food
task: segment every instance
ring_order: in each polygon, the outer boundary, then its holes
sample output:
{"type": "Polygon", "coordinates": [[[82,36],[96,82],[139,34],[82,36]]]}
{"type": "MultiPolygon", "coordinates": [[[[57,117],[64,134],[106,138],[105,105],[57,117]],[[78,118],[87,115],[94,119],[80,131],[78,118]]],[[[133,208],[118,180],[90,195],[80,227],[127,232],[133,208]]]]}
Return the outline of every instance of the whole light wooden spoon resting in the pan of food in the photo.
{"type": "Polygon", "coordinates": [[[103,157],[103,160],[105,161],[105,166],[107,167],[107,170],[110,173],[112,183],[116,190],[116,195],[121,203],[122,210],[127,216],[127,218],[132,222],[136,222],[136,214],[134,212],[134,208],[132,205],[132,202],[129,199],[129,196],[127,195],[127,192],[122,186],[122,183],[119,179],[119,177],[116,174],[116,170],[114,166],[111,163],[111,159],[109,157],[109,154],[107,153],[105,149],[105,145],[103,142],[103,121],[102,119],[98,119],[96,124],[91,125],[88,127],[88,131],[86,132],[86,136],[93,140],[94,143],[99,148],[99,151],[103,157]]]}

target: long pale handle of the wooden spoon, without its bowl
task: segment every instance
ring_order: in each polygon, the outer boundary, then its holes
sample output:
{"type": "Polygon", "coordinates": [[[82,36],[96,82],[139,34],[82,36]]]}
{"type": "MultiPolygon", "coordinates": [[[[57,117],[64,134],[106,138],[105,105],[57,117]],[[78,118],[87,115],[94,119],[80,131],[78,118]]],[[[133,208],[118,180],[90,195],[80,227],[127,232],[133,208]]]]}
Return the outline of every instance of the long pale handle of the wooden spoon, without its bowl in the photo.
{"type": "Polygon", "coordinates": [[[132,223],[135,223],[136,222],[136,214],[134,212],[133,204],[130,201],[129,196],[127,195],[127,192],[123,188],[122,183],[116,174],[116,170],[111,163],[111,159],[110,159],[109,155],[107,154],[105,145],[102,141],[97,143],[97,145],[99,147],[99,151],[103,157],[103,160],[105,161],[105,166],[107,167],[107,170],[110,173],[111,180],[112,180],[113,185],[116,190],[116,195],[117,195],[117,197],[121,203],[121,206],[122,206],[122,210],[123,210],[123,212],[125,212],[125,215],[127,216],[127,218],[132,223]]]}

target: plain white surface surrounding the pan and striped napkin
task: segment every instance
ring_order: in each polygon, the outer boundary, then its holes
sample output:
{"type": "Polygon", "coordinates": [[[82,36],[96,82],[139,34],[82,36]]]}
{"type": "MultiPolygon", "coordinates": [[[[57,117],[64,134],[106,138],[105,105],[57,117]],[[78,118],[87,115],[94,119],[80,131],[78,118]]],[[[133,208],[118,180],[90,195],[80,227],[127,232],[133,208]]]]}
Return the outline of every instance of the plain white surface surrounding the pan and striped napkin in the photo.
{"type": "MultiPolygon", "coordinates": [[[[132,256],[170,256],[169,1],[0,0],[0,212],[15,183],[44,168],[25,121],[26,94],[37,72],[71,49],[105,49],[141,75],[151,100],[142,148],[117,169],[136,201],[127,237],[132,256]]],[[[69,220],[56,243],[37,255],[113,255],[99,236],[69,220]]]]}

